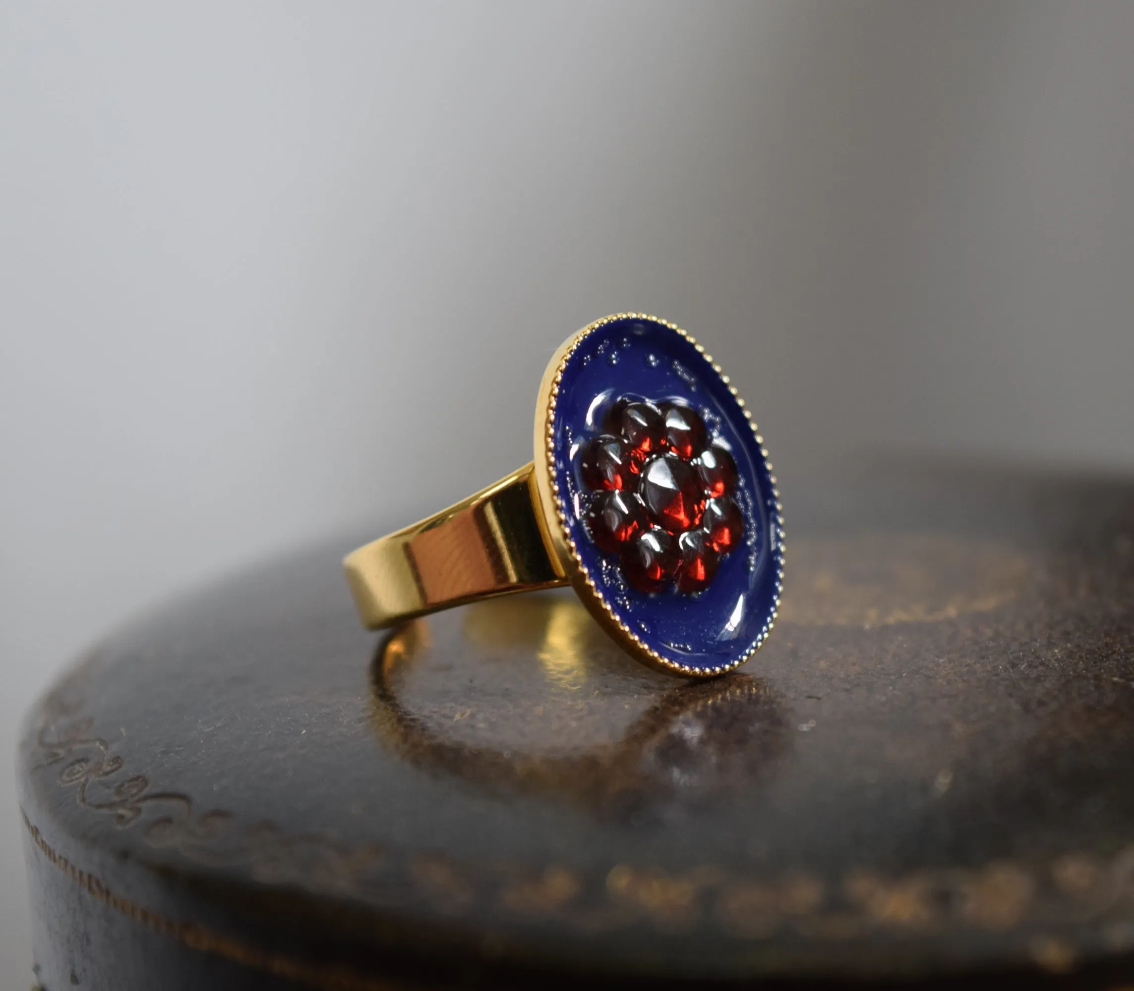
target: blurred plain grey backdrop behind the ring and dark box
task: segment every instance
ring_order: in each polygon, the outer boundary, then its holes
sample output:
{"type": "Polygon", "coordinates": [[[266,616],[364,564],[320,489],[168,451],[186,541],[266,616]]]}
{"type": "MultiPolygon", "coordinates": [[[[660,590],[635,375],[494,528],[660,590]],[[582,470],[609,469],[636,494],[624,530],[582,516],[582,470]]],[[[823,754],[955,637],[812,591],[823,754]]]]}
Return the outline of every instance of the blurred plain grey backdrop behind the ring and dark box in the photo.
{"type": "Polygon", "coordinates": [[[517,467],[595,317],[710,345],[788,512],[846,448],[1134,465],[1132,52],[1131,2],[0,2],[0,986],[50,676],[517,467]]]}

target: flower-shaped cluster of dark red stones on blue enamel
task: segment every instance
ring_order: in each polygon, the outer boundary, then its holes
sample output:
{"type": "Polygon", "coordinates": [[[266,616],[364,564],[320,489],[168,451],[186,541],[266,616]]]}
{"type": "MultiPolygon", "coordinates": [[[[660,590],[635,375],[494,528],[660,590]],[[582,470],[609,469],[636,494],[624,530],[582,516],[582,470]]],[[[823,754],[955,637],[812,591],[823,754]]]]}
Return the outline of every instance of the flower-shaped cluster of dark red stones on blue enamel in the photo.
{"type": "Polygon", "coordinates": [[[731,498],[733,455],[710,444],[701,417],[678,403],[620,399],[603,430],[579,451],[583,482],[598,494],[587,514],[591,539],[619,555],[638,591],[708,588],[744,532],[731,498]]]}

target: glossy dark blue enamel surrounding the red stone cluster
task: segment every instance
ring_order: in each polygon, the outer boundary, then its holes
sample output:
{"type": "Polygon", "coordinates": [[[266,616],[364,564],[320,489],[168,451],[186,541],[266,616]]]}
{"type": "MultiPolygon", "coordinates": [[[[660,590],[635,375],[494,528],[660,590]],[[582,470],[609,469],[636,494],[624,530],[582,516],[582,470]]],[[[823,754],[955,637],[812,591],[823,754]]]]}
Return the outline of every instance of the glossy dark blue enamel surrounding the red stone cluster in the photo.
{"type": "Polygon", "coordinates": [[[744,411],[693,344],[665,324],[637,318],[592,331],[564,367],[553,443],[568,530],[623,623],[667,659],[700,670],[733,665],[760,641],[776,608],[781,556],[772,482],[744,411]],[[583,519],[593,496],[578,475],[578,447],[602,433],[603,412],[621,395],[686,401],[736,460],[734,497],[744,512],[744,543],[699,595],[636,591],[623,578],[617,556],[599,550],[586,532],[583,519]]]}

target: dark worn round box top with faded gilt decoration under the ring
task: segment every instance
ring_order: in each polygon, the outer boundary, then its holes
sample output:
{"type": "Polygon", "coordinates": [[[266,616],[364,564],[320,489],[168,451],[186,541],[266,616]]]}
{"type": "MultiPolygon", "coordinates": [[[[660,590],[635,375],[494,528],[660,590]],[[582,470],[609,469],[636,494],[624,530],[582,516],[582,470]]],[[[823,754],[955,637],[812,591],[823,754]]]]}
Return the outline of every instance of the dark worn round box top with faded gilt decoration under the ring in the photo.
{"type": "Polygon", "coordinates": [[[785,493],[706,683],[569,591],[375,639],[349,539],[122,631],[20,751],[44,986],[135,986],[130,931],[247,986],[1134,981],[1134,485],[882,478],[785,493]]]}

